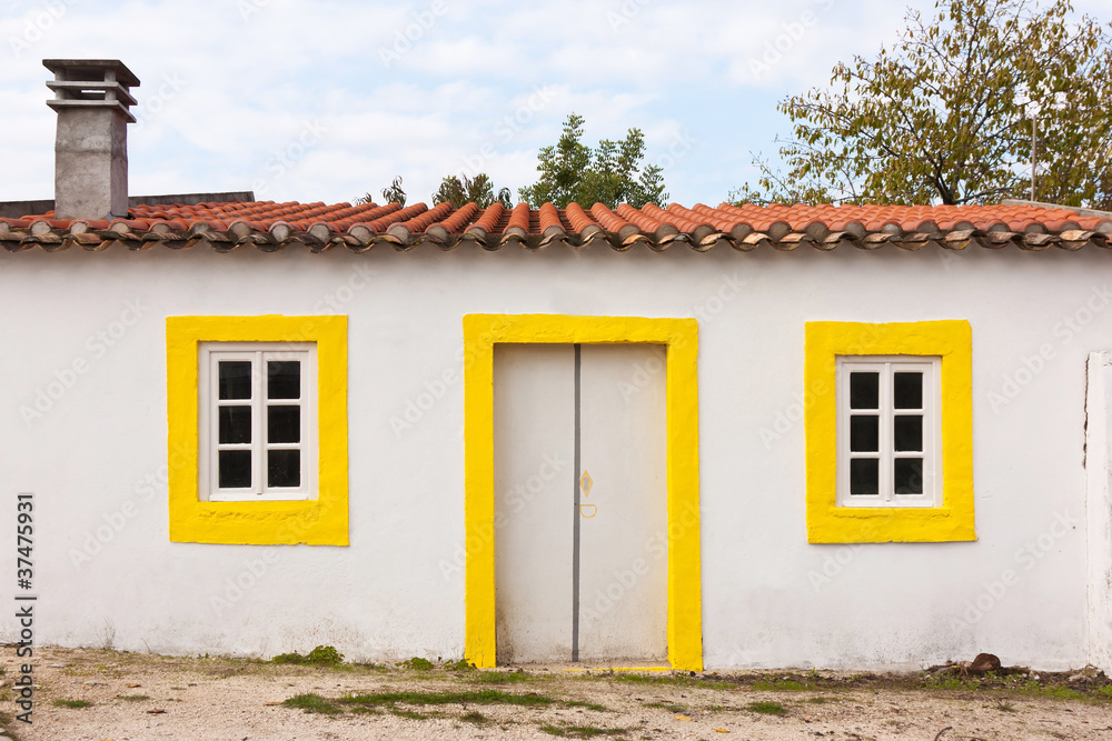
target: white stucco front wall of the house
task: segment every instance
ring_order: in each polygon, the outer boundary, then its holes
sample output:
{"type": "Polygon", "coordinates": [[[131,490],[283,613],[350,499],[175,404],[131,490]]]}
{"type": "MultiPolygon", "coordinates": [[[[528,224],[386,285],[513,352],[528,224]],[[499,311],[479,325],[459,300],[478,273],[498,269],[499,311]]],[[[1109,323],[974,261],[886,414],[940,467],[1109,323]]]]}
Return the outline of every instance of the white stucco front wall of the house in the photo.
{"type": "Polygon", "coordinates": [[[695,316],[708,669],[1078,667],[1085,366],[1112,349],[1112,256],[971,249],[0,254],[0,548],[34,492],[40,642],[458,658],[461,317],[695,316]],[[349,317],[348,548],[169,542],[165,318],[261,313],[349,317]],[[971,322],[977,542],[807,544],[803,333],[824,319],[971,322]],[[24,419],[40,391],[59,398],[24,419]]]}

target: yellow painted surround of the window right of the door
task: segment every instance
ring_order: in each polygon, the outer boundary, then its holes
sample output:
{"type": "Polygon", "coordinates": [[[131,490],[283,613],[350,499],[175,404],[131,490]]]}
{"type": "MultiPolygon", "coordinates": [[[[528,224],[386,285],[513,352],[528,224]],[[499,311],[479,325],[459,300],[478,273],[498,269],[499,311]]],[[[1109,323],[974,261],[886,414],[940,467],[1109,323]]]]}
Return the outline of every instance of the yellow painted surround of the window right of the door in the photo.
{"type": "Polygon", "coordinates": [[[816,321],[805,328],[804,388],[807,541],[812,543],[976,540],[973,511],[973,332],[964,320],[864,323],[816,321]],[[942,503],[838,507],[838,357],[941,357],[942,503]]]}

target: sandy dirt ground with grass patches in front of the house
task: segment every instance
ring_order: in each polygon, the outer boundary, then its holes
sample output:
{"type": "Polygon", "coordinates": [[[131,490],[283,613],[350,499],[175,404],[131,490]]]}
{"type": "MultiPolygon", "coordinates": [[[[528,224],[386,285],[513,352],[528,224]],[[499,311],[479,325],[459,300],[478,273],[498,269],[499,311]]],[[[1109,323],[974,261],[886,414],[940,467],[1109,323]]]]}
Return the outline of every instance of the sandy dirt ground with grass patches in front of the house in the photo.
{"type": "Polygon", "coordinates": [[[914,674],[613,673],[159,657],[37,649],[33,723],[18,741],[346,739],[1105,739],[1112,683],[1093,671],[914,674]]]}

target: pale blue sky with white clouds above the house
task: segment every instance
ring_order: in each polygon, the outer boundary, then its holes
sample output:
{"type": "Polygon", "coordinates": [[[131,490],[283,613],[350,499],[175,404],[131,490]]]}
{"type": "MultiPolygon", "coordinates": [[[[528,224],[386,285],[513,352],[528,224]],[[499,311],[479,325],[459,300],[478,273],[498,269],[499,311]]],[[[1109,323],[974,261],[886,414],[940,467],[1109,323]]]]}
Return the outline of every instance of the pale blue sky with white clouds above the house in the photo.
{"type": "Polygon", "coordinates": [[[0,201],[53,197],[42,60],[90,58],[141,81],[133,196],[381,202],[400,176],[431,202],[486,172],[516,201],[576,112],[588,144],[639,128],[671,200],[714,206],[775,160],[777,102],[891,46],[909,7],[933,2],[0,0],[0,201]]]}

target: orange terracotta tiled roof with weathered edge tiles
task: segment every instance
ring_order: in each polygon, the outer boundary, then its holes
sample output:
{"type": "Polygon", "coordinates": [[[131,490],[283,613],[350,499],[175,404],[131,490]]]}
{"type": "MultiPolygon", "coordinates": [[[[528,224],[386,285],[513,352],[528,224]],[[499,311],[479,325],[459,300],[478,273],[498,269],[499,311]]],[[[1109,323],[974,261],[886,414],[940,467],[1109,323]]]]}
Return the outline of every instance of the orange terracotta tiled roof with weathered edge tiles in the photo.
{"type": "Polygon", "coordinates": [[[179,249],[195,246],[227,252],[254,246],[269,252],[286,247],[321,252],[344,247],[364,252],[376,246],[408,250],[428,244],[450,250],[474,242],[486,250],[503,247],[545,248],[606,246],[627,250],[645,246],[662,251],[687,246],[696,251],[731,247],[820,250],[852,246],[871,250],[885,244],[917,250],[935,244],[964,249],[1013,246],[1024,250],[1086,244],[1112,247],[1112,218],[1079,216],[1064,208],[1023,206],[743,206],[697,203],[667,209],[636,209],[577,203],[557,209],[524,203],[480,209],[468,203],[429,208],[416,203],[276,203],[235,201],[181,206],[136,206],[129,219],[115,221],[54,220],[53,212],[0,219],[0,246],[9,252],[38,247],[56,251],[77,246],[102,250],[119,243],[129,250],[156,244],[179,249]]]}

